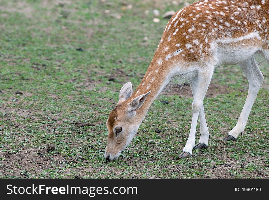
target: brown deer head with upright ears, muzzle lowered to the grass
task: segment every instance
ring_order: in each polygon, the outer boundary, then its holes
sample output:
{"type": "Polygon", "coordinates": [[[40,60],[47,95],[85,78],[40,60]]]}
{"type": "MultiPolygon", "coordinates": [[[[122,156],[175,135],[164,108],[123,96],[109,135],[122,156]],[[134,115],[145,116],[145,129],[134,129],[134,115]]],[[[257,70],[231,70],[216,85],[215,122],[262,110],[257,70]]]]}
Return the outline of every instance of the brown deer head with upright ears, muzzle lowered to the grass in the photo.
{"type": "MultiPolygon", "coordinates": [[[[151,91],[132,98],[132,83],[128,82],[120,90],[119,102],[109,113],[106,126],[108,129],[105,159],[115,160],[131,143],[146,113],[138,109],[144,104],[151,91]],[[130,98],[131,97],[131,98],[130,98]]],[[[146,109],[147,110],[147,109],[146,109]]]]}

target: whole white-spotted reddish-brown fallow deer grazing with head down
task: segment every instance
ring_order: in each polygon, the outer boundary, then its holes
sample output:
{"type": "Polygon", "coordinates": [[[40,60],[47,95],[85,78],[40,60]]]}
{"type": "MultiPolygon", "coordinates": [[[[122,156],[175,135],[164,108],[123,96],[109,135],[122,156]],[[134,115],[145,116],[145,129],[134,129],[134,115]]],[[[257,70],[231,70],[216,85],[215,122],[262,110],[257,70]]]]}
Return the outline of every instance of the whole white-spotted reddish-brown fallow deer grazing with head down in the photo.
{"type": "Polygon", "coordinates": [[[216,65],[238,64],[249,81],[245,105],[236,126],[223,139],[235,140],[246,126],[263,83],[255,61],[261,53],[269,61],[269,0],[201,0],[177,11],[164,28],[144,78],[133,93],[131,82],[120,90],[109,113],[105,159],[114,160],[134,138],[149,106],[175,77],[188,77],[193,93],[190,135],[179,157],[208,146],[209,132],[203,99],[216,65]],[[201,137],[195,145],[200,119],[201,137]]]}

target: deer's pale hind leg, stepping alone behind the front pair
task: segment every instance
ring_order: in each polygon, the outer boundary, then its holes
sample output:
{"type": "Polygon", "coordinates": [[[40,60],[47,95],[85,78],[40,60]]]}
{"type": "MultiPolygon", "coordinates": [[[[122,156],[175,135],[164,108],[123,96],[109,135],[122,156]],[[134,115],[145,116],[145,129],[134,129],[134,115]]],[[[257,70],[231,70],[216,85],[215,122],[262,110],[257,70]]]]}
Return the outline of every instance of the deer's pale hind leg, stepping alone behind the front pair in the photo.
{"type": "Polygon", "coordinates": [[[249,118],[249,113],[256,99],[256,96],[260,90],[263,83],[263,75],[255,61],[254,56],[249,58],[247,61],[239,64],[240,68],[245,73],[249,81],[249,91],[246,98],[244,107],[242,109],[241,115],[238,119],[236,126],[230,131],[230,133],[223,139],[223,141],[235,140],[239,134],[243,134],[247,120],[249,118]]]}

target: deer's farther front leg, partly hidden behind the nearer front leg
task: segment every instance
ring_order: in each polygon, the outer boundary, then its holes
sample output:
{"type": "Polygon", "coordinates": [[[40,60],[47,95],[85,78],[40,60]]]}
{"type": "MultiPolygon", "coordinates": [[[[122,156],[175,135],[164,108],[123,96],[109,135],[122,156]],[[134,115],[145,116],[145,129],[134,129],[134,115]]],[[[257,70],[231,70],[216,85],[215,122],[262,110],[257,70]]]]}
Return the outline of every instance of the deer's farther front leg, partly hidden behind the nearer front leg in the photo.
{"type": "MultiPolygon", "coordinates": [[[[195,90],[197,87],[197,81],[198,77],[195,76],[193,80],[190,81],[190,87],[193,94],[193,97],[195,95],[195,90]]],[[[209,139],[209,131],[205,120],[205,111],[204,111],[204,105],[202,103],[200,112],[199,112],[199,121],[200,121],[200,140],[197,145],[194,146],[194,149],[200,149],[200,148],[206,148],[208,146],[208,139],[209,139]]]]}

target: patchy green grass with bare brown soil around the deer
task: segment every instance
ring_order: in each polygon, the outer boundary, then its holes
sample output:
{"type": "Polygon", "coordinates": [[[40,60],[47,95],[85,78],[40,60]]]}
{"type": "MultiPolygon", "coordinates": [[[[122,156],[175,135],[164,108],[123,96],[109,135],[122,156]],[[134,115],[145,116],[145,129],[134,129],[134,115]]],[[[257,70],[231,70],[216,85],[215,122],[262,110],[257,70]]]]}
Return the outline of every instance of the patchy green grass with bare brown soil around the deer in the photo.
{"type": "MultiPolygon", "coordinates": [[[[124,2],[0,2],[0,177],[268,178],[266,65],[263,87],[238,140],[222,142],[241,113],[248,83],[238,66],[222,66],[212,80],[216,95],[204,101],[208,148],[179,159],[192,98],[170,94],[160,97],[169,104],[153,102],[120,158],[104,160],[108,113],[124,83],[131,81],[135,89],[142,80],[168,22],[153,23],[152,10],[182,7],[170,1],[124,2]],[[133,8],[125,9],[124,2],[133,8]],[[121,19],[110,16],[115,13],[121,19]],[[94,126],[78,128],[76,121],[94,126]],[[50,143],[54,151],[46,150],[50,143]]],[[[199,137],[198,130],[197,142],[199,137]]]]}

